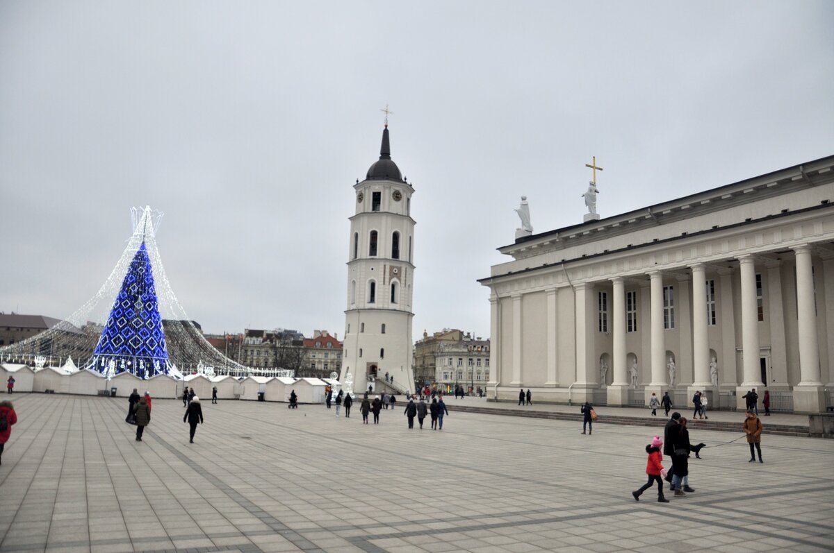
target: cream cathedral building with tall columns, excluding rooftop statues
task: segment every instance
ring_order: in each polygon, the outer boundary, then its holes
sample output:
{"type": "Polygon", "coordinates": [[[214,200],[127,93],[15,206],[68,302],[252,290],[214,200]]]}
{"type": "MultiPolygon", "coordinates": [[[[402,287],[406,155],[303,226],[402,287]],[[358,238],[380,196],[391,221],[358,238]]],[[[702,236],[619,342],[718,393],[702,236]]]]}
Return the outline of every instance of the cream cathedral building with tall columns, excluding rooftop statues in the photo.
{"type": "Polygon", "coordinates": [[[490,277],[492,400],[834,405],[834,156],[516,238],[490,277]]]}

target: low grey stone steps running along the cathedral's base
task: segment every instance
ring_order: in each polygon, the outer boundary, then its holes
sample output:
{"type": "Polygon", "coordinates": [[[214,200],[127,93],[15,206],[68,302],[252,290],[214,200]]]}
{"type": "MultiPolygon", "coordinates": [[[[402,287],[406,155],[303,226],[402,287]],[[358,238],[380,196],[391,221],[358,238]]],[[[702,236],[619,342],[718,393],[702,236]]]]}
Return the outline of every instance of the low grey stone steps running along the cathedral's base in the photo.
{"type": "MultiPolygon", "coordinates": [[[[525,416],[534,419],[552,419],[557,421],[582,421],[581,413],[565,413],[560,411],[532,411],[521,409],[498,409],[495,407],[462,406],[460,404],[446,404],[449,411],[461,411],[468,413],[480,413],[484,415],[503,416],[525,416]]],[[[598,423],[624,425],[624,426],[658,426],[661,429],[666,426],[668,419],[664,417],[643,418],[636,416],[605,415],[595,421],[598,423]]],[[[696,419],[688,421],[691,429],[699,431],[724,431],[741,432],[741,421],[701,421],[696,419]]],[[[765,433],[775,436],[808,436],[808,426],[801,425],[778,425],[767,423],[765,433]]]]}

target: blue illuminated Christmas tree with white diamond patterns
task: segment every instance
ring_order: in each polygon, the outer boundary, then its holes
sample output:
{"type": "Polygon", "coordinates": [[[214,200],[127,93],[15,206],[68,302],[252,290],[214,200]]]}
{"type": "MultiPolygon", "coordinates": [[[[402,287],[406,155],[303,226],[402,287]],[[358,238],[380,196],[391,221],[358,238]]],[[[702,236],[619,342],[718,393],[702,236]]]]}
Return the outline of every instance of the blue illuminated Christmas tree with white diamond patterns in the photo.
{"type": "Polygon", "coordinates": [[[105,374],[111,366],[114,372],[142,378],[168,373],[165,333],[144,242],[130,262],[93,358],[96,369],[105,374]]]}

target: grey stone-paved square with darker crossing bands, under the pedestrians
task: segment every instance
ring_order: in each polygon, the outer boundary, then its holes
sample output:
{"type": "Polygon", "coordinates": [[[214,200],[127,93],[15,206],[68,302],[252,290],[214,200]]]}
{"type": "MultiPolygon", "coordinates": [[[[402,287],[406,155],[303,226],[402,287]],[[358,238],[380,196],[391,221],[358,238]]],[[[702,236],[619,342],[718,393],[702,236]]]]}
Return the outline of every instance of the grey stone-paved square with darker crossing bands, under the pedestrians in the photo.
{"type": "MultiPolygon", "coordinates": [[[[452,412],[444,431],[357,409],[13,396],[0,551],[832,551],[834,441],[700,431],[696,493],[638,503],[656,429],[452,412]],[[416,426],[416,424],[415,424],[416,426]]],[[[741,425],[741,415],[739,415],[741,425]]],[[[763,419],[765,424],[766,419],[763,419]]],[[[665,464],[666,461],[665,461],[665,464]]]]}

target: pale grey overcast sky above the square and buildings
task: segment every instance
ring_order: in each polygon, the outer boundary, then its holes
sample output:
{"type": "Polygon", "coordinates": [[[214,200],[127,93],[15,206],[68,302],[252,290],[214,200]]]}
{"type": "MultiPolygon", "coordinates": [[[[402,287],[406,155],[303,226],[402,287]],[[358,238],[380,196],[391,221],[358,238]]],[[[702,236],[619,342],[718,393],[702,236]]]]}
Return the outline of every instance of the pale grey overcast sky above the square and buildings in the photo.
{"type": "Polygon", "coordinates": [[[63,318],[165,212],[204,331],[344,334],[353,184],[413,182],[414,337],[489,336],[535,232],[834,153],[834,2],[0,2],[0,311],[63,318]]]}

